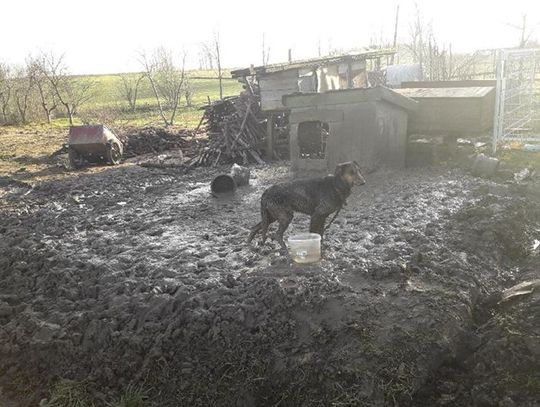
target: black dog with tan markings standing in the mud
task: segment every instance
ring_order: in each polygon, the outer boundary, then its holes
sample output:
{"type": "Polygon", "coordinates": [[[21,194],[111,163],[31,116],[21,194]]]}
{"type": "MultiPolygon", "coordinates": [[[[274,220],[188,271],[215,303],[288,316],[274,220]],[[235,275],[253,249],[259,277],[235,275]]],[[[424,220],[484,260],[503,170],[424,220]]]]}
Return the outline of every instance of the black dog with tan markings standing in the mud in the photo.
{"type": "Polygon", "coordinates": [[[289,227],[295,211],[311,215],[309,231],[318,233],[322,238],[326,218],[345,205],[353,185],[365,183],[358,163],[351,161],[339,164],[334,175],[271,186],[262,194],[262,221],[251,229],[248,243],[261,232],[262,244],[264,244],[268,226],[278,221],[279,228],[276,237],[283,250],[286,250],[283,233],[289,227]]]}

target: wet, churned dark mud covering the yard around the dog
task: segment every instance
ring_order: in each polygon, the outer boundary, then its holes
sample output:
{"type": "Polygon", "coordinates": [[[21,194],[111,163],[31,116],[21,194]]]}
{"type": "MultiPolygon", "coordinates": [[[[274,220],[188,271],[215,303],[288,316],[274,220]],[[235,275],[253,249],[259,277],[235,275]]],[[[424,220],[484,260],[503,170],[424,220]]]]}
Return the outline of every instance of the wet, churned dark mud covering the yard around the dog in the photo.
{"type": "Polygon", "coordinates": [[[538,278],[537,179],[368,174],[325,258],[297,266],[245,244],[287,165],[212,196],[226,170],[4,183],[0,395],[35,406],[71,379],[96,405],[129,385],[156,406],[538,405],[538,295],[498,294],[538,278]]]}

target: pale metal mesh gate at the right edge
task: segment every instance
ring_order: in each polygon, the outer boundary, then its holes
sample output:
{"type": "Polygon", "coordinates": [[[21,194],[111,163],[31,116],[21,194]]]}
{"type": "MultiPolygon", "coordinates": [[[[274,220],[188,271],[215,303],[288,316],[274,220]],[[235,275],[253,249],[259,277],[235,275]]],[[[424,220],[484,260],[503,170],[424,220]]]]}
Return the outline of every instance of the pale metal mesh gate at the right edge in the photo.
{"type": "Polygon", "coordinates": [[[497,53],[497,93],[493,120],[493,152],[505,142],[540,142],[535,131],[539,92],[540,50],[499,50],[497,53]]]}

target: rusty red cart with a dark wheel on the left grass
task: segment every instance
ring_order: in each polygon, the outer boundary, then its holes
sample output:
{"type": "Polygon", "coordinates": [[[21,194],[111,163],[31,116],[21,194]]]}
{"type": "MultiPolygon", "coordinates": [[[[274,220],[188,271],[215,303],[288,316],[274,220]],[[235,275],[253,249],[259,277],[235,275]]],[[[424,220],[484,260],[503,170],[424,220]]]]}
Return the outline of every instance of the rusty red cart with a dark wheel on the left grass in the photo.
{"type": "Polygon", "coordinates": [[[71,126],[69,128],[68,155],[73,168],[85,162],[120,163],[124,147],[120,139],[106,126],[71,126]]]}

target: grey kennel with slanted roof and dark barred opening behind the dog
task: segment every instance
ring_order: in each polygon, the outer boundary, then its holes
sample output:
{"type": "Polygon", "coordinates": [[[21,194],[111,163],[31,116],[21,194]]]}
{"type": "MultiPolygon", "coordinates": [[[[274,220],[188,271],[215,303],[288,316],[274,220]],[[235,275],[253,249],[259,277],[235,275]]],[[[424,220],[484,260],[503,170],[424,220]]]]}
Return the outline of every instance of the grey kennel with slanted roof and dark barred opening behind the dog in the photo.
{"type": "Polygon", "coordinates": [[[385,87],[283,97],[290,109],[294,171],[332,171],[340,162],[404,167],[408,113],[417,102],[385,87]]]}

